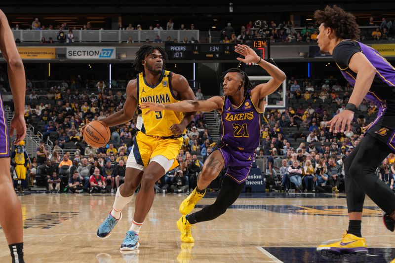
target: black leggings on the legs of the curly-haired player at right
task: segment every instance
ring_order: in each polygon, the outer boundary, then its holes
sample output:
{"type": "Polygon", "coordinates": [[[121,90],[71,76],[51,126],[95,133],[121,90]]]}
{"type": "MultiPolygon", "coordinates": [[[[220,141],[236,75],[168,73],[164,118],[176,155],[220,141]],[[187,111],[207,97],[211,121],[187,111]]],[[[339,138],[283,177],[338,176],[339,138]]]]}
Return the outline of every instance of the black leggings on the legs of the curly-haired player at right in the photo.
{"type": "MultiPolygon", "coordinates": [[[[350,221],[361,221],[365,193],[384,212],[390,215],[394,212],[395,194],[375,174],[377,167],[390,152],[391,150],[387,145],[367,134],[356,149],[344,160],[350,221]]],[[[352,223],[350,222],[351,227],[349,228],[353,228],[352,223]]],[[[353,229],[349,230],[353,231],[353,229]]],[[[360,228],[355,235],[360,236],[360,228]]]]}

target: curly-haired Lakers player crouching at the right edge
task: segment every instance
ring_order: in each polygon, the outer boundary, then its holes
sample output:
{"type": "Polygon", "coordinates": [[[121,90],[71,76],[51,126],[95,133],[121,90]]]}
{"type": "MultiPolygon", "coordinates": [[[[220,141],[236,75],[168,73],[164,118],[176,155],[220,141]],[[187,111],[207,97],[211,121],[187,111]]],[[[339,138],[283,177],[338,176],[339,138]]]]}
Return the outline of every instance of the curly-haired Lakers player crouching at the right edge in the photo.
{"type": "Polygon", "coordinates": [[[329,130],[351,130],[354,113],[364,98],[379,109],[364,138],[344,160],[349,228],[340,241],[317,248],[328,257],[359,256],[368,252],[361,235],[365,194],[385,212],[386,227],[395,229],[395,194],[375,174],[385,157],[395,151],[395,68],[376,50],[355,40],[359,29],[351,13],[327,6],[317,10],[315,18],[320,25],[320,51],[332,54],[342,75],[354,87],[345,110],[327,123],[329,130]]]}

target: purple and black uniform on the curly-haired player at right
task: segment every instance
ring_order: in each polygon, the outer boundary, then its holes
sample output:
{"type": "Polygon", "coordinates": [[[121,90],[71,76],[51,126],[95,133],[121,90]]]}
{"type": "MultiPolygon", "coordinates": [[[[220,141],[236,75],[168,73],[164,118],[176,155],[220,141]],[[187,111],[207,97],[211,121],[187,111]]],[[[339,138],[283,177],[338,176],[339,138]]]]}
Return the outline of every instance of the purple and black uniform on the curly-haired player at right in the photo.
{"type": "Polygon", "coordinates": [[[365,99],[373,102],[379,112],[366,133],[387,144],[395,152],[395,68],[370,46],[356,40],[342,40],[333,49],[332,56],[343,76],[353,87],[356,73],[348,65],[351,57],[357,52],[362,52],[376,68],[376,75],[365,99]]]}

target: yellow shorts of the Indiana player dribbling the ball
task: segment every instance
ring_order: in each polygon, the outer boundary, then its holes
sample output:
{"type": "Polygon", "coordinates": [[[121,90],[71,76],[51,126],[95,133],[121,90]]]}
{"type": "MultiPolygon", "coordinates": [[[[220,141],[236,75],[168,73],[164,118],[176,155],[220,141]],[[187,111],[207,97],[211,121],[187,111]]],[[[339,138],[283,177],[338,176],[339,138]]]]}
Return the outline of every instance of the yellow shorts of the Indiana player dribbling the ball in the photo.
{"type": "Polygon", "coordinates": [[[174,160],[169,170],[174,169],[179,165],[176,158],[180,153],[183,140],[182,137],[175,139],[156,138],[139,131],[134,139],[126,167],[143,170],[142,167],[146,167],[153,157],[162,155],[168,160],[174,160]]]}

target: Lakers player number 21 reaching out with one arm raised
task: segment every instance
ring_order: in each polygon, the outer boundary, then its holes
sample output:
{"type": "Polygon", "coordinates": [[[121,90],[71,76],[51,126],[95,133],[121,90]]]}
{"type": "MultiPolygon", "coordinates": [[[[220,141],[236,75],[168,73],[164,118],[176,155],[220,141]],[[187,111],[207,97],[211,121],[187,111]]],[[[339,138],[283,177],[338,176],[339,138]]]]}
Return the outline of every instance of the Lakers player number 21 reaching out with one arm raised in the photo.
{"type": "Polygon", "coordinates": [[[237,60],[257,63],[273,78],[267,83],[253,87],[248,76],[239,69],[230,69],[222,76],[224,97],[214,96],[207,101],[185,100],[172,104],[142,103],[142,109],[152,111],[210,112],[221,113],[221,143],[204,162],[202,173],[197,178],[197,188],[181,203],[183,215],[177,226],[181,241],[192,243],[191,225],[213,220],[224,214],[244,188],[245,180],[254,161],[255,149],[260,141],[261,114],[264,112],[265,97],[285,80],[285,74],[276,66],[264,61],[254,50],[238,44],[235,51],[244,56],[237,60]],[[223,184],[214,204],[190,214],[203,197],[205,189],[227,168],[223,184]]]}

